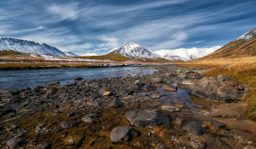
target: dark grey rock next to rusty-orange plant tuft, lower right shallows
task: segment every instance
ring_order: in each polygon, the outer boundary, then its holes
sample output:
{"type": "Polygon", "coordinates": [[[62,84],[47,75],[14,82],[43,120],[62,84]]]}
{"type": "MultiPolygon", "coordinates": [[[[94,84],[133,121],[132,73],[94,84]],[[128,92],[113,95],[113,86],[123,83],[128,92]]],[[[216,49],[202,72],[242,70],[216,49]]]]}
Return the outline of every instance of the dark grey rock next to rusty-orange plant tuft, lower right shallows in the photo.
{"type": "Polygon", "coordinates": [[[205,128],[203,127],[204,124],[198,121],[192,121],[188,123],[183,130],[186,132],[193,134],[195,136],[201,136],[202,134],[206,133],[205,128]]]}

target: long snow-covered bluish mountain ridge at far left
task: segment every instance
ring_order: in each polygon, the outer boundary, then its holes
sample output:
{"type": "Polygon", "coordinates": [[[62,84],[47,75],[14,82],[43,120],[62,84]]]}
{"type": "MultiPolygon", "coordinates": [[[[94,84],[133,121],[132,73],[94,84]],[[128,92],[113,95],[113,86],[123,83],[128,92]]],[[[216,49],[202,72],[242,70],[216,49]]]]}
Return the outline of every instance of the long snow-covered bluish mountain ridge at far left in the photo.
{"type": "Polygon", "coordinates": [[[13,50],[37,55],[67,56],[64,52],[48,44],[13,37],[0,37],[0,50],[13,50]]]}

